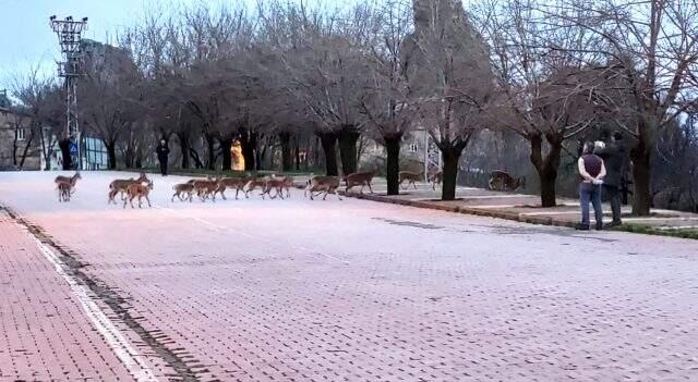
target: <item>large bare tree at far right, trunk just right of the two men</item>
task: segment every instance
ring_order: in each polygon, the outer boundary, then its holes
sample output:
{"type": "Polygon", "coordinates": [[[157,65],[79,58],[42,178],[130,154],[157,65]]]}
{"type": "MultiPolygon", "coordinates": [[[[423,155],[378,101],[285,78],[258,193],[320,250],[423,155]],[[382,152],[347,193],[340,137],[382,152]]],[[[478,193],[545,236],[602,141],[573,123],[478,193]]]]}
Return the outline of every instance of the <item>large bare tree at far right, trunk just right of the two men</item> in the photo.
{"type": "Polygon", "coordinates": [[[698,3],[565,1],[541,9],[551,25],[573,24],[603,41],[592,50],[607,57],[611,74],[609,86],[597,93],[597,102],[613,112],[617,125],[634,137],[633,212],[649,214],[657,137],[697,103],[698,3]]]}

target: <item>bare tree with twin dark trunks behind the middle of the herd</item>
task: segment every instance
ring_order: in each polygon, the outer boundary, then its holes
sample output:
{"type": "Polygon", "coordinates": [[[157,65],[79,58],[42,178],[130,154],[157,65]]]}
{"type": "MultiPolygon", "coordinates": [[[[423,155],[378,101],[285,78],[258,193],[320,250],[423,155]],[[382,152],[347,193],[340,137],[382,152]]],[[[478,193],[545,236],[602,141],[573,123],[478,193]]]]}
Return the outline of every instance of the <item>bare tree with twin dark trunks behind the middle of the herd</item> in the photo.
{"type": "Polygon", "coordinates": [[[357,5],[340,13],[277,2],[261,11],[267,39],[284,63],[287,93],[315,120],[327,174],[338,174],[337,143],[344,172],[356,172],[372,9],[357,5]]]}

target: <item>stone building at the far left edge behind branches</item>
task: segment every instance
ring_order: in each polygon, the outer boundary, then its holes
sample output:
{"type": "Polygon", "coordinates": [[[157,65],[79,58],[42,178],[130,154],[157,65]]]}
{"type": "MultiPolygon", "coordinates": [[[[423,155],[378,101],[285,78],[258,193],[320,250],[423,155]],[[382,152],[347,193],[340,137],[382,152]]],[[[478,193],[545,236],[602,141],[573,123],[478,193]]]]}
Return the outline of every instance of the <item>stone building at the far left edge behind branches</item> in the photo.
{"type": "Polygon", "coordinates": [[[39,170],[39,139],[31,119],[11,108],[7,90],[0,90],[0,170],[39,170]]]}

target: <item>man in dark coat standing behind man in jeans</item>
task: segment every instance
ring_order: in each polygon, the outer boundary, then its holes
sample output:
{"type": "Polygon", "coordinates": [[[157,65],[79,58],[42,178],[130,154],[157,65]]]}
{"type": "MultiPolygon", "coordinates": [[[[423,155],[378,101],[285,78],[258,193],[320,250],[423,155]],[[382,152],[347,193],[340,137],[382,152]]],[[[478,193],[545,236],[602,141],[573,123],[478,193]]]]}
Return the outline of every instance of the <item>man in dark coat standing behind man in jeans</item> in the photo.
{"type": "Polygon", "coordinates": [[[623,140],[623,135],[613,133],[613,138],[606,143],[605,147],[594,150],[594,153],[603,159],[606,168],[606,176],[603,180],[603,194],[606,195],[613,211],[613,222],[609,226],[621,225],[621,187],[627,168],[627,146],[623,140]]]}

